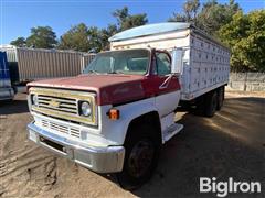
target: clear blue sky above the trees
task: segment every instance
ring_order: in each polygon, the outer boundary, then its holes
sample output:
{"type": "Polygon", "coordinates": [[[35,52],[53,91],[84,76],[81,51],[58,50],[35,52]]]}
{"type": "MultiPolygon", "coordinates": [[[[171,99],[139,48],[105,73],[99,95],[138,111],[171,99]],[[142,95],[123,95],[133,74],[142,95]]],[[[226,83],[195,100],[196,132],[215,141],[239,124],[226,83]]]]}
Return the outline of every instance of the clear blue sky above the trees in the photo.
{"type": "MultiPolygon", "coordinates": [[[[149,23],[167,21],[186,0],[0,0],[0,44],[30,35],[34,26],[51,26],[60,37],[72,25],[106,28],[112,13],[127,6],[131,14],[147,13],[149,23]]],[[[206,0],[200,0],[201,3],[206,0]]],[[[235,0],[245,13],[265,9],[265,0],[235,0]]],[[[219,0],[227,3],[229,0],[219,0]]]]}

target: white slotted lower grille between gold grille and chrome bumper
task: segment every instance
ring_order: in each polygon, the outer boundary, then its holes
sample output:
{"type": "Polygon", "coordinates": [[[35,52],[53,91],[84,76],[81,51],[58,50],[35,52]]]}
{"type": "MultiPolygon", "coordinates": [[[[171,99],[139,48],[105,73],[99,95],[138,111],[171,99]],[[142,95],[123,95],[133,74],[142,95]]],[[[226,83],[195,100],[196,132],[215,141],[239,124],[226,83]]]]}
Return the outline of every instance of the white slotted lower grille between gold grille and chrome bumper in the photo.
{"type": "Polygon", "coordinates": [[[64,133],[64,134],[70,134],[70,135],[75,136],[75,138],[81,138],[81,131],[77,128],[65,127],[65,125],[57,124],[55,122],[51,122],[51,121],[47,121],[47,120],[42,120],[41,125],[44,129],[49,129],[49,130],[52,130],[52,131],[55,131],[55,132],[61,132],[61,133],[64,133]]]}

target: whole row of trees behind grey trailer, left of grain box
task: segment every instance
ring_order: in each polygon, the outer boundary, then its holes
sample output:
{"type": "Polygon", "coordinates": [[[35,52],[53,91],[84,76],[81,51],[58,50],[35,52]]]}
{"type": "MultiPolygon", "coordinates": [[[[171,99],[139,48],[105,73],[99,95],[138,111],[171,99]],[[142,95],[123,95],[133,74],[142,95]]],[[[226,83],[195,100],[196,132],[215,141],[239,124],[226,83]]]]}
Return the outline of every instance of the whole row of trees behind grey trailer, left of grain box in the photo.
{"type": "Polygon", "coordinates": [[[38,26],[31,29],[31,35],[26,40],[18,37],[10,44],[38,48],[57,47],[81,52],[99,52],[109,48],[108,38],[114,34],[148,22],[146,13],[130,14],[127,7],[117,9],[112,14],[116,18],[117,24],[108,24],[105,29],[80,23],[65,32],[57,42],[55,33],[50,26],[38,26]]]}

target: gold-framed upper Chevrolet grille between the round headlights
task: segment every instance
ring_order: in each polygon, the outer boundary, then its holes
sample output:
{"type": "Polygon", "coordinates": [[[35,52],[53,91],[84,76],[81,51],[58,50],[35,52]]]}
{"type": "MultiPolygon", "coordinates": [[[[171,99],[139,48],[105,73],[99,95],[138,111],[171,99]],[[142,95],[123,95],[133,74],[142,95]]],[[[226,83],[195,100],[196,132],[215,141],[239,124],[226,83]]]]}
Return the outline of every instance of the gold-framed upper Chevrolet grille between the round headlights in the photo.
{"type": "MultiPolygon", "coordinates": [[[[64,89],[30,88],[30,99],[36,96],[38,105],[32,105],[32,111],[50,116],[60,120],[77,123],[97,124],[95,95],[92,92],[72,91],[64,89]],[[82,117],[78,113],[78,102],[88,101],[92,106],[92,116],[82,117]]],[[[32,103],[32,101],[30,101],[32,103]]]]}

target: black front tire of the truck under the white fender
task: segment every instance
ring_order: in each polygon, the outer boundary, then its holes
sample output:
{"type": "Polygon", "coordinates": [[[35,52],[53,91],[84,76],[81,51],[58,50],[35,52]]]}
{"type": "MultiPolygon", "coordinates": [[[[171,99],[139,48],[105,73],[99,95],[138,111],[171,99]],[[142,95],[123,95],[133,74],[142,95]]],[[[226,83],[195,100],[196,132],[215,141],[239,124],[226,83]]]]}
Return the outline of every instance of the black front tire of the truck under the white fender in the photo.
{"type": "Polygon", "coordinates": [[[146,124],[131,127],[125,141],[125,163],[117,180],[124,189],[132,190],[150,179],[157,167],[160,143],[146,124]]]}

